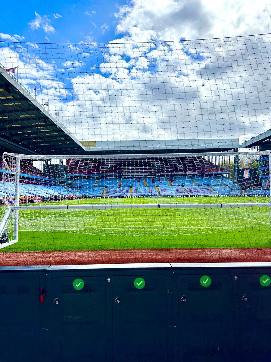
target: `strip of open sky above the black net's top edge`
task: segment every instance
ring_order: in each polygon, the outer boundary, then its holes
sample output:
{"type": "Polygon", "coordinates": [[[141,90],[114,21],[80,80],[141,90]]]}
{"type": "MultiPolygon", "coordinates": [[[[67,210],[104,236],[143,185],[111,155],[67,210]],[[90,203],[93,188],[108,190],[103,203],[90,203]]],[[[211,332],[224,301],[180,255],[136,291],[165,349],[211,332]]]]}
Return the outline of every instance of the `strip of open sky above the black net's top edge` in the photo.
{"type": "Polygon", "coordinates": [[[271,32],[270,0],[2,1],[0,39],[107,43],[271,32]],[[6,36],[5,36],[6,35],[6,36]]]}

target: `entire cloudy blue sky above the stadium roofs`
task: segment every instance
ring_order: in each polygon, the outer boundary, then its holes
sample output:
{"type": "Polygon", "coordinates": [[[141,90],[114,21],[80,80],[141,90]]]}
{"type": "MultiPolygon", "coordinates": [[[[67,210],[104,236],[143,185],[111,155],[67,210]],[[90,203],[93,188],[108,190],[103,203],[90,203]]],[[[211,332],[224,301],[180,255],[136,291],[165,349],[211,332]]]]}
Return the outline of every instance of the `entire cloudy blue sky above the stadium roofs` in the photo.
{"type": "Polygon", "coordinates": [[[243,141],[270,128],[269,33],[265,0],[15,0],[0,63],[79,140],[243,141]]]}

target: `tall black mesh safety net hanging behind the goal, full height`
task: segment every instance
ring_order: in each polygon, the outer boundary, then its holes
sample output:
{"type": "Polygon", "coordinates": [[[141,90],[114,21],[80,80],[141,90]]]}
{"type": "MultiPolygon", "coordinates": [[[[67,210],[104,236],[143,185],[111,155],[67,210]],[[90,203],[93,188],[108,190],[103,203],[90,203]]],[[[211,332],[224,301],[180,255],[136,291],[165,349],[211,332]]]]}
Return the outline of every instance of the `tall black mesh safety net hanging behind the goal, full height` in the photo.
{"type": "Polygon", "coordinates": [[[1,151],[55,155],[0,160],[0,259],[162,249],[166,261],[165,249],[189,249],[197,260],[200,248],[216,249],[212,260],[219,248],[260,257],[270,247],[270,206],[258,205],[270,202],[269,151],[258,152],[270,149],[270,38],[0,42],[1,151]],[[249,145],[257,152],[214,153],[249,145]]]}

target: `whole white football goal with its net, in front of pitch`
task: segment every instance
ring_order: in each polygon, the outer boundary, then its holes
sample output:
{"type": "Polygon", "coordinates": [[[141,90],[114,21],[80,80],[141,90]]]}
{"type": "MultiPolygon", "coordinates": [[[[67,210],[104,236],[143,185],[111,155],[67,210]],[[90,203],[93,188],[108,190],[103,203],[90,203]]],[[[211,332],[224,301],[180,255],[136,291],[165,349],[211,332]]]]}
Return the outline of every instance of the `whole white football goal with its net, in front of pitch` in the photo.
{"type": "Polygon", "coordinates": [[[66,251],[269,246],[269,157],[261,152],[5,153],[0,247],[66,251]]]}

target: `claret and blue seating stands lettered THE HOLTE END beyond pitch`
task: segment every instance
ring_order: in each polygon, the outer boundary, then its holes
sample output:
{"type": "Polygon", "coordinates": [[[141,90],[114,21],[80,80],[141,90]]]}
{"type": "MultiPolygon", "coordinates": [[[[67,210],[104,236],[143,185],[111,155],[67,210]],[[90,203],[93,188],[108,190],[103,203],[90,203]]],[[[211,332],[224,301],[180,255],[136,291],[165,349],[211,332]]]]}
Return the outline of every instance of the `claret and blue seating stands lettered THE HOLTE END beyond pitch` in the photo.
{"type": "MultiPolygon", "coordinates": [[[[149,157],[119,159],[67,159],[65,182],[50,169],[42,172],[30,161],[20,165],[20,194],[38,198],[81,197],[194,197],[221,195],[269,195],[269,179],[258,187],[239,184],[220,166],[203,157],[149,157]],[[163,174],[163,176],[162,176],[163,174]],[[102,176],[103,175],[103,176],[102,176]],[[51,177],[48,177],[51,176],[51,177]],[[108,177],[107,177],[108,176],[108,177]]],[[[259,167],[263,169],[263,167],[259,167]]],[[[2,160],[0,170],[3,171],[2,160]]],[[[241,182],[241,181],[240,181],[241,182]]],[[[0,195],[15,185],[1,178],[0,195]]],[[[0,197],[1,198],[1,197],[0,197]]]]}

